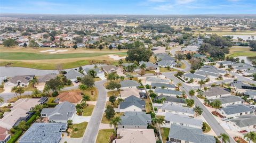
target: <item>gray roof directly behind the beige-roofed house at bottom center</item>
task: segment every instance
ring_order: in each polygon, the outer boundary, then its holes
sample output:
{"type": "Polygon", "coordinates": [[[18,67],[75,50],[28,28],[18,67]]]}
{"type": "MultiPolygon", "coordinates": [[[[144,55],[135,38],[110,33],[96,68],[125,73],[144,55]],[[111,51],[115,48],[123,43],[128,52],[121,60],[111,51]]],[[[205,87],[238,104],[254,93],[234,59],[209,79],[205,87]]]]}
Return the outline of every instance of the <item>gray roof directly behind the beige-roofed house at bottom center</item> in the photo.
{"type": "Polygon", "coordinates": [[[146,112],[125,112],[121,116],[121,125],[148,125],[151,115],[146,112]]]}

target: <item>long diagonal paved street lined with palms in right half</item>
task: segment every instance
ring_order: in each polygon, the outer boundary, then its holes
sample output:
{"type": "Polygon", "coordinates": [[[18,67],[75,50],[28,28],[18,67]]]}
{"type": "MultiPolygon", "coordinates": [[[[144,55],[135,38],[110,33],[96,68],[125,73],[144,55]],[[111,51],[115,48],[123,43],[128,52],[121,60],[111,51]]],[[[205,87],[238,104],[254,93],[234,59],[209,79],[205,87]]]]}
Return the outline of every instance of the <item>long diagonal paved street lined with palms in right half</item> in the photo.
{"type": "MultiPolygon", "coordinates": [[[[191,89],[194,89],[193,87],[191,86],[188,86],[186,85],[185,83],[183,83],[182,81],[180,81],[178,78],[174,77],[173,74],[169,74],[169,73],[164,73],[164,75],[169,78],[169,79],[173,79],[173,82],[174,83],[182,83],[182,87],[181,87],[181,90],[184,90],[186,91],[186,94],[188,94],[188,91],[191,90],[191,89]]],[[[217,136],[220,135],[220,133],[226,133],[228,134],[222,127],[221,125],[219,125],[219,123],[217,122],[217,120],[215,120],[215,118],[213,117],[212,113],[210,113],[207,108],[199,101],[199,99],[197,97],[192,97],[194,100],[195,100],[195,105],[196,106],[200,106],[204,112],[203,112],[203,116],[204,116],[204,119],[209,123],[210,127],[213,129],[213,131],[217,134],[217,136]]],[[[235,141],[229,136],[230,138],[230,142],[231,143],[235,143],[235,141]]]]}

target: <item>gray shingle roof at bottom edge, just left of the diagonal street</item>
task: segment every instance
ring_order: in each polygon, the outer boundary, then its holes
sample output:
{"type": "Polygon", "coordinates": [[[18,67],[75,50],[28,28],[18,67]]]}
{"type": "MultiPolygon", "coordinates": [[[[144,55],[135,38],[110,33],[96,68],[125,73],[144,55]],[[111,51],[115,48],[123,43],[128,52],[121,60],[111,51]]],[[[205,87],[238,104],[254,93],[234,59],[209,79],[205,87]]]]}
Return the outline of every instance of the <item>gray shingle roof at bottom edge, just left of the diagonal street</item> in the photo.
{"type": "Polygon", "coordinates": [[[171,124],[169,138],[186,140],[196,143],[215,143],[213,136],[203,134],[202,129],[185,127],[183,125],[171,124]]]}

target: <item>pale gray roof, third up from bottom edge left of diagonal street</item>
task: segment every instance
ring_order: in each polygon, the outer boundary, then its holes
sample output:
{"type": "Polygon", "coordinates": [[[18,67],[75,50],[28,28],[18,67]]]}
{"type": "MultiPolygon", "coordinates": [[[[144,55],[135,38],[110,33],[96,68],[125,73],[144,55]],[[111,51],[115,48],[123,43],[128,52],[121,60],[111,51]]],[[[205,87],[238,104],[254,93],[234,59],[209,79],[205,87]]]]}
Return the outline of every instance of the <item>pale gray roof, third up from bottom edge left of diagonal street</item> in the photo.
{"type": "Polygon", "coordinates": [[[167,110],[167,111],[176,111],[176,112],[194,114],[193,108],[182,107],[182,106],[177,106],[177,105],[167,104],[167,103],[164,103],[161,109],[167,110]]]}

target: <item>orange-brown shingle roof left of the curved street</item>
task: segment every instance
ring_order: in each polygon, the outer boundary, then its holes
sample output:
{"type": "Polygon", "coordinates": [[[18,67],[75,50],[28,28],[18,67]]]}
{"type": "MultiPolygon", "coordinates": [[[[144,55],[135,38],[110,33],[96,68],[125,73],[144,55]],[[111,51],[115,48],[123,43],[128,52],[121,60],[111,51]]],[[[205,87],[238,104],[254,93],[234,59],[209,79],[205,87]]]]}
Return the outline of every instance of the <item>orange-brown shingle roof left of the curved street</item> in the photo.
{"type": "Polygon", "coordinates": [[[70,102],[70,103],[78,103],[82,99],[82,92],[81,91],[67,91],[62,92],[58,95],[60,102],[70,102]]]}

